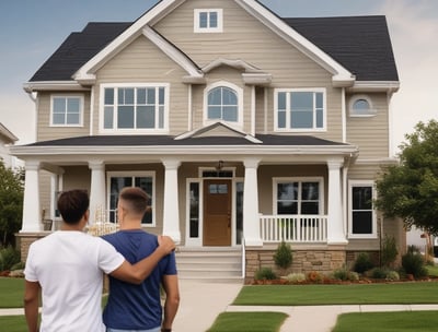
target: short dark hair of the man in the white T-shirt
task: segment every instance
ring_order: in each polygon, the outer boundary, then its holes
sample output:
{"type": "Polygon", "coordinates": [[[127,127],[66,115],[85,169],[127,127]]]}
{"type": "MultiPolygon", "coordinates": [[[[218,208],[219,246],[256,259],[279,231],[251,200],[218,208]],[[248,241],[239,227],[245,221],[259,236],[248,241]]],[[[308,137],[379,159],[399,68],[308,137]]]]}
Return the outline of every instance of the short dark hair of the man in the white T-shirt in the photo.
{"type": "Polygon", "coordinates": [[[65,191],[58,199],[58,211],[65,223],[78,224],[89,210],[90,199],[85,190],[65,191]]]}

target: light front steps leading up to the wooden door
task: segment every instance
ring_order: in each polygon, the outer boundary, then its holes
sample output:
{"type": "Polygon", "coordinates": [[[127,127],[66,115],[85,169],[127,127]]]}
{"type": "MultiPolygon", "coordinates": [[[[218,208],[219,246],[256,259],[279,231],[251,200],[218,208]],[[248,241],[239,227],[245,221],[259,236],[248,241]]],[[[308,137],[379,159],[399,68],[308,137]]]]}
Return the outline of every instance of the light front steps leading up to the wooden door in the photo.
{"type": "Polygon", "coordinates": [[[229,247],[186,248],[176,251],[178,278],[243,282],[242,250],[229,247]]]}

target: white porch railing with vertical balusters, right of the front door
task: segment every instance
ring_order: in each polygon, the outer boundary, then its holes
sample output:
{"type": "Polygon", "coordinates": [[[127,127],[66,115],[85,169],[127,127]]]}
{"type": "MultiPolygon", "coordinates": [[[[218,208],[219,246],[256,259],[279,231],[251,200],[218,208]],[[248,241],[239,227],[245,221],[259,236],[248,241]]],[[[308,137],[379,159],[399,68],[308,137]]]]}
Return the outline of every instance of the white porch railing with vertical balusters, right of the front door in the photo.
{"type": "Polygon", "coordinates": [[[326,215],[261,215],[264,242],[326,242],[326,215]]]}

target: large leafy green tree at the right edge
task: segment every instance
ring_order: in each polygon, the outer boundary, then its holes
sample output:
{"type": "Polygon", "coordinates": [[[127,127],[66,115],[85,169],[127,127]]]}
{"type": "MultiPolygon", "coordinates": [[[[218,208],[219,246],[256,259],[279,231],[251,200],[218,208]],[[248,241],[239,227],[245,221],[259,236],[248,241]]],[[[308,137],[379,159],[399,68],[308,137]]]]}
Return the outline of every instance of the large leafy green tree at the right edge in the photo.
{"type": "Polygon", "coordinates": [[[407,227],[438,235],[438,122],[418,122],[405,139],[400,164],[383,169],[377,180],[376,206],[407,227]]]}

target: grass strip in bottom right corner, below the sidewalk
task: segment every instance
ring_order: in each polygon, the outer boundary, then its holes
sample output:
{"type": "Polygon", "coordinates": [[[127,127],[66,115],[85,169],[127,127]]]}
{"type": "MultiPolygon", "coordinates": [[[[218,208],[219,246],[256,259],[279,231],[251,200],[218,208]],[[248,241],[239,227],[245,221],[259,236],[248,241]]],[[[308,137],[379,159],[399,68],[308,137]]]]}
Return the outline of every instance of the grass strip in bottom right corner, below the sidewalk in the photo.
{"type": "Polygon", "coordinates": [[[434,332],[437,311],[344,313],[332,332],[434,332]]]}

